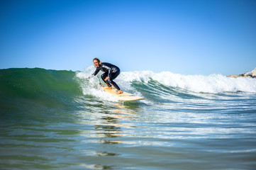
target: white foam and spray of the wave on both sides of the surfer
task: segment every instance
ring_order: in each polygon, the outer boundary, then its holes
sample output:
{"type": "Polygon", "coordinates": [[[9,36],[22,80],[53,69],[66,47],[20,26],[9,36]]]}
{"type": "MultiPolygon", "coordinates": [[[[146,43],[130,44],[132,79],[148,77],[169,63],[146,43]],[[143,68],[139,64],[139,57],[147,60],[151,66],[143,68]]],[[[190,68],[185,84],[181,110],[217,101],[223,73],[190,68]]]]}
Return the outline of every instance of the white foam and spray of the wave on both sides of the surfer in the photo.
{"type": "MultiPolygon", "coordinates": [[[[84,72],[77,73],[80,79],[86,79],[95,71],[94,67],[87,67],[84,72]]],[[[84,94],[91,94],[99,98],[113,98],[99,88],[99,79],[93,77],[84,81],[82,89],[84,94]]],[[[194,92],[204,93],[222,93],[245,91],[256,93],[256,79],[252,78],[229,78],[221,74],[204,75],[183,75],[172,72],[154,73],[151,71],[121,72],[116,78],[116,82],[124,91],[133,91],[136,95],[141,96],[131,86],[133,81],[148,83],[150,80],[158,81],[165,86],[179,87],[194,92]]]]}

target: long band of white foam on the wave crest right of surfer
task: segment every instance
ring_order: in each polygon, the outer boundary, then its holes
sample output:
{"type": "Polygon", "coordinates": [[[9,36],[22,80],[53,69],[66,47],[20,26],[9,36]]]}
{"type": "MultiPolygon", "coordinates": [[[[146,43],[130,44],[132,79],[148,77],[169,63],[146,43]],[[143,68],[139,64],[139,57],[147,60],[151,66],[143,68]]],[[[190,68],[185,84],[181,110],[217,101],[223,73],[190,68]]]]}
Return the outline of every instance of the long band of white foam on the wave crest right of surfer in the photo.
{"type": "Polygon", "coordinates": [[[194,92],[221,93],[221,92],[256,92],[256,79],[229,78],[221,74],[182,75],[172,72],[154,73],[151,71],[123,72],[123,79],[127,81],[145,81],[150,79],[165,86],[179,87],[194,92]]]}

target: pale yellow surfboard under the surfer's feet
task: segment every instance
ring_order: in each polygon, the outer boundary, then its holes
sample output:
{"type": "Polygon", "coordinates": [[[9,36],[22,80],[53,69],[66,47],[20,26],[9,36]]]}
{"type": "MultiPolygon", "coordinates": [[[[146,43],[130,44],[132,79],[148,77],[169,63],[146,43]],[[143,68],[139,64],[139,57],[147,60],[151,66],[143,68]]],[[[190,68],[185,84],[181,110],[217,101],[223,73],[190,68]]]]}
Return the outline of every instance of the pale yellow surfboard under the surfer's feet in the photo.
{"type": "Polygon", "coordinates": [[[138,101],[144,99],[142,97],[135,96],[134,94],[129,94],[126,91],[123,91],[123,94],[116,94],[116,89],[106,89],[106,86],[101,86],[101,88],[107,93],[112,94],[112,96],[120,101],[138,101]]]}

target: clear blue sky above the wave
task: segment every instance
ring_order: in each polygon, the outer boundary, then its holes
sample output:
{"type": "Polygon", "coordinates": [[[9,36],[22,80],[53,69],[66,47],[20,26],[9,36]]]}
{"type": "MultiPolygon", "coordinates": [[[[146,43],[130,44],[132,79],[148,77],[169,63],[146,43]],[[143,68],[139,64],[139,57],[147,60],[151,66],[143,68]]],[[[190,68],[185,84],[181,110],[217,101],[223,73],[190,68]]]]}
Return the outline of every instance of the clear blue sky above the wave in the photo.
{"type": "Polygon", "coordinates": [[[256,67],[254,0],[1,0],[0,69],[242,74],[256,67]]]}

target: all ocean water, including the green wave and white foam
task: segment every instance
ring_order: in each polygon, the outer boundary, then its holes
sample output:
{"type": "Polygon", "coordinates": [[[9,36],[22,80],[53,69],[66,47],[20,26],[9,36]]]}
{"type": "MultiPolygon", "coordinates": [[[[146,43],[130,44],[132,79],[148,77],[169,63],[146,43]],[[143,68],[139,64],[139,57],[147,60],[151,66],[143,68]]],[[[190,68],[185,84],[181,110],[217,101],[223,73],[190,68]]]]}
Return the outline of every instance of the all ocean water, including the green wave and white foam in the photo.
{"type": "Polygon", "coordinates": [[[256,169],[256,79],[0,70],[0,169],[256,169]]]}

